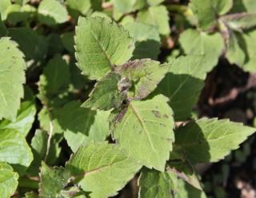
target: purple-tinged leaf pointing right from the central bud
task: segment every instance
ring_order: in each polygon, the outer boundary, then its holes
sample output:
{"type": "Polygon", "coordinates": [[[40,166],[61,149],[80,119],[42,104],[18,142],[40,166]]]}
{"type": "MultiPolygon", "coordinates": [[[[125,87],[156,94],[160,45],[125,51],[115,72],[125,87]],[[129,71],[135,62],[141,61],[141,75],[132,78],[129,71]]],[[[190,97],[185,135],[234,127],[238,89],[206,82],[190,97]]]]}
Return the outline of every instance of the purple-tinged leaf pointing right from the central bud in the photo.
{"type": "Polygon", "coordinates": [[[127,77],[133,83],[130,99],[141,100],[156,89],[170,69],[170,64],[160,65],[158,61],[142,59],[129,61],[118,69],[122,77],[127,77]]]}

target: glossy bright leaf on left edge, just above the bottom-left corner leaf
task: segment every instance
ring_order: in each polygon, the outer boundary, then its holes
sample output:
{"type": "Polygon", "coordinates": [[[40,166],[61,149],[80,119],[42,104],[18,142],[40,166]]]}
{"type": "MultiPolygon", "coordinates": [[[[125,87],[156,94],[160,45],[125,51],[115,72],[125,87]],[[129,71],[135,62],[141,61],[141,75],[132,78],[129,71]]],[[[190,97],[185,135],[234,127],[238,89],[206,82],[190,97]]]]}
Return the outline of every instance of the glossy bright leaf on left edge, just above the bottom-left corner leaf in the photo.
{"type": "Polygon", "coordinates": [[[14,129],[0,129],[0,161],[14,164],[14,169],[23,172],[33,160],[26,139],[14,129]]]}

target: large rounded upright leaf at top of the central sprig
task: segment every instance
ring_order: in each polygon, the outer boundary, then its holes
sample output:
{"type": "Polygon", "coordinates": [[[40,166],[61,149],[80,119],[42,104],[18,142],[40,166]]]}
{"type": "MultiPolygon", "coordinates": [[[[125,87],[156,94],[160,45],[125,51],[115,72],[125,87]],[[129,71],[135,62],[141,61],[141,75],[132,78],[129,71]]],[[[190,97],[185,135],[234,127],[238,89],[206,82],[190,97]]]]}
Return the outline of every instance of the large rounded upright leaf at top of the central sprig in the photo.
{"type": "Polygon", "coordinates": [[[90,79],[100,79],[113,65],[130,59],[134,42],[128,32],[105,18],[79,18],[75,36],[78,67],[90,79]]]}

